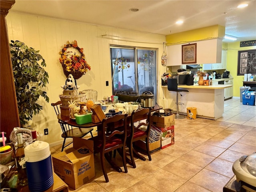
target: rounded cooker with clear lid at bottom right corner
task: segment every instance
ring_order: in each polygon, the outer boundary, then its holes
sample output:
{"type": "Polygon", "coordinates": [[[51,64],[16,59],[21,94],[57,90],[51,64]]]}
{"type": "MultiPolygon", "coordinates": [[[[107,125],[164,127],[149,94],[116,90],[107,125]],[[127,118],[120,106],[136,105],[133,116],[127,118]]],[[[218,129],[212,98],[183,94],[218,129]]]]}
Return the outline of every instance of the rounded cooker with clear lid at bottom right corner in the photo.
{"type": "Polygon", "coordinates": [[[232,166],[236,180],[246,192],[256,192],[256,153],[244,155],[232,166]]]}

